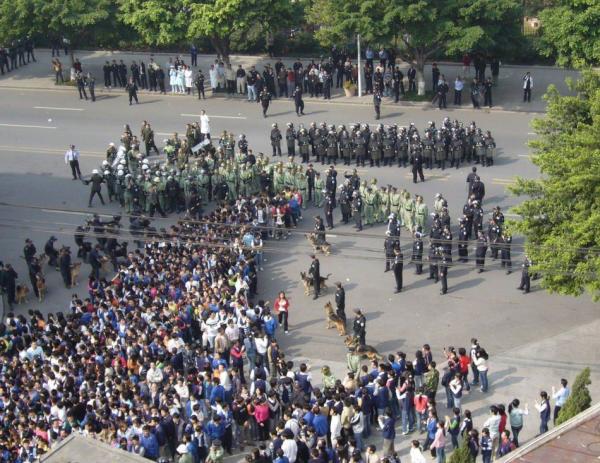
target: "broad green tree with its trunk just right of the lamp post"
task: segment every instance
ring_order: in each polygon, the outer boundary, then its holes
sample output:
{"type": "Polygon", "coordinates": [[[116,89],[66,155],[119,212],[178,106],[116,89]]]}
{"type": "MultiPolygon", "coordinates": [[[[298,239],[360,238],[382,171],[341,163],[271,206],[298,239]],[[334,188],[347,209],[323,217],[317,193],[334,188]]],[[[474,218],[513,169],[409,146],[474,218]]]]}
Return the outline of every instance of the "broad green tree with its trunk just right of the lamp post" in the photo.
{"type": "Polygon", "coordinates": [[[502,57],[521,40],[517,0],[315,0],[307,19],[324,46],[355,35],[391,45],[423,81],[425,62],[441,53],[478,50],[502,57]]]}

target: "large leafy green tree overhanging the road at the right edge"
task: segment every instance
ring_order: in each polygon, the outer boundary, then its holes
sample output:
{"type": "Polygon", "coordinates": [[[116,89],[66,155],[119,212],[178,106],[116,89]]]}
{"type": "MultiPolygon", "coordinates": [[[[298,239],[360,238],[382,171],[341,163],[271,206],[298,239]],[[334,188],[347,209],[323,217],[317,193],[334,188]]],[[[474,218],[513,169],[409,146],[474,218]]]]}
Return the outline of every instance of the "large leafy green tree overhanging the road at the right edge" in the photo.
{"type": "Polygon", "coordinates": [[[600,73],[588,70],[575,96],[551,85],[546,116],[532,126],[532,161],[542,177],[517,178],[510,188],[525,201],[513,208],[511,225],[526,238],[532,271],[550,292],[600,298],[600,73]]]}

